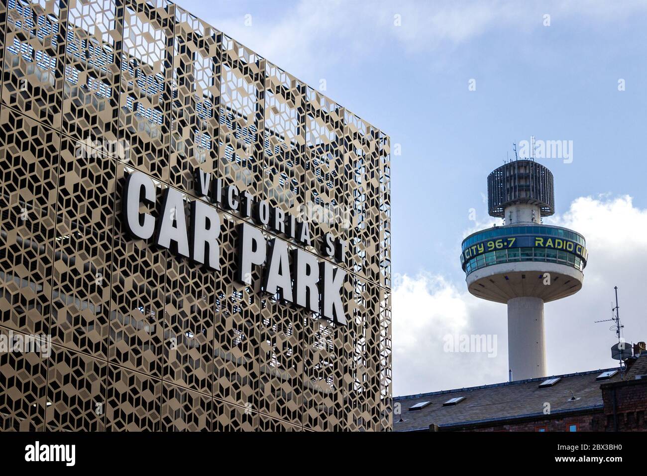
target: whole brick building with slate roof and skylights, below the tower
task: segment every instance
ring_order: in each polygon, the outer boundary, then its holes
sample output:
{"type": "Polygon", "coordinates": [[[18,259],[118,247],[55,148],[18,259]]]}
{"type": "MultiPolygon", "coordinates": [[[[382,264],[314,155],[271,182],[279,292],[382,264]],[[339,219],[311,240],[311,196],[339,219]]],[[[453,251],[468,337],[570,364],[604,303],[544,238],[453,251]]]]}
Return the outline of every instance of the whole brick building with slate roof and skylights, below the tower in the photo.
{"type": "Polygon", "coordinates": [[[393,398],[394,431],[647,431],[647,353],[606,368],[393,398]]]}

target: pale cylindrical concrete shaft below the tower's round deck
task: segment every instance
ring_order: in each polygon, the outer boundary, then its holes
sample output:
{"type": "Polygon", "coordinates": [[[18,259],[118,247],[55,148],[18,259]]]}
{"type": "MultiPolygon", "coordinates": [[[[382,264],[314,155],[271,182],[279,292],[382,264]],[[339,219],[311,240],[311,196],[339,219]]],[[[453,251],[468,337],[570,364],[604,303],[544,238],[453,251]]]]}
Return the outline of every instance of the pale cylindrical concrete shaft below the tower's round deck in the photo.
{"type": "Polygon", "coordinates": [[[508,365],[512,380],[547,375],[543,339],[543,300],[515,297],[508,301],[508,365]]]}

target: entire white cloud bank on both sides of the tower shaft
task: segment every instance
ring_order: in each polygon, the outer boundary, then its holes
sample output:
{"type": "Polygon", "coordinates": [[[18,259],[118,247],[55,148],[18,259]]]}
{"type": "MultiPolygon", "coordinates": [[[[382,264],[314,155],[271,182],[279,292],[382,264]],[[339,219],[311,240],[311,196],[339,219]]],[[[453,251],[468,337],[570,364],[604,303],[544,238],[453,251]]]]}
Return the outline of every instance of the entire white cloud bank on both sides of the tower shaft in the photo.
{"type": "MultiPolygon", "coordinates": [[[[547,363],[551,374],[615,365],[610,348],[613,286],[628,341],[647,340],[644,275],[647,209],[629,196],[578,198],[546,223],[584,234],[589,263],[584,287],[545,305],[547,363]]],[[[504,304],[473,297],[465,283],[442,276],[404,276],[393,290],[393,394],[413,394],[507,380],[507,313],[504,304]],[[498,356],[443,352],[446,334],[497,334],[498,356]]]]}

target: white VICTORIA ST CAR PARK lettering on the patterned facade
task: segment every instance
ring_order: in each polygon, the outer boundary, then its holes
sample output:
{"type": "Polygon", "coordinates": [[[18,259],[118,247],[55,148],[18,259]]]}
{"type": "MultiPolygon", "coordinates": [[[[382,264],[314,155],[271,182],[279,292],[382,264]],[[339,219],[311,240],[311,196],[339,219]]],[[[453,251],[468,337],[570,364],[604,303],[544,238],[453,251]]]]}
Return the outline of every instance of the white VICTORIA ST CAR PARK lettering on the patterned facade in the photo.
{"type": "MultiPolygon", "coordinates": [[[[212,271],[220,270],[220,217],[212,205],[237,210],[262,227],[300,244],[313,246],[307,220],[298,220],[272,207],[267,200],[258,200],[236,185],[223,187],[222,179],[214,179],[201,169],[193,172],[195,192],[204,198],[189,200],[190,223],[184,214],[184,195],[168,187],[156,219],[140,213],[140,204],[155,205],[155,184],[143,172],[126,177],[122,196],[122,216],[126,232],[135,239],[153,238],[155,245],[170,249],[176,255],[190,258],[212,271]]],[[[285,302],[323,317],[346,324],[342,288],[346,271],[329,260],[343,264],[346,242],[325,233],[316,246],[322,260],[300,247],[291,251],[280,238],[266,239],[261,229],[242,221],[237,225],[238,244],[235,279],[252,284],[254,266],[263,266],[261,291],[279,295],[285,302]]]]}

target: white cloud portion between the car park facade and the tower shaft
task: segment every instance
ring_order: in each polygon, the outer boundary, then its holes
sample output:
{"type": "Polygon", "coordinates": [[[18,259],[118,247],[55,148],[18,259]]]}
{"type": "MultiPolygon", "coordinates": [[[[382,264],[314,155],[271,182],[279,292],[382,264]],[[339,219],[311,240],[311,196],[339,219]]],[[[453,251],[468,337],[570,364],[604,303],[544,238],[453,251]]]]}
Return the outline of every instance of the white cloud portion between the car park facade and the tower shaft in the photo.
{"type": "Polygon", "coordinates": [[[402,277],[393,306],[393,394],[412,394],[505,380],[505,308],[481,301],[437,275],[402,277]],[[444,352],[444,336],[496,334],[497,355],[444,352]]]}

